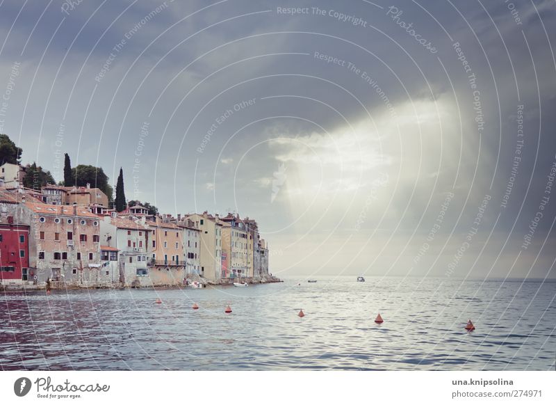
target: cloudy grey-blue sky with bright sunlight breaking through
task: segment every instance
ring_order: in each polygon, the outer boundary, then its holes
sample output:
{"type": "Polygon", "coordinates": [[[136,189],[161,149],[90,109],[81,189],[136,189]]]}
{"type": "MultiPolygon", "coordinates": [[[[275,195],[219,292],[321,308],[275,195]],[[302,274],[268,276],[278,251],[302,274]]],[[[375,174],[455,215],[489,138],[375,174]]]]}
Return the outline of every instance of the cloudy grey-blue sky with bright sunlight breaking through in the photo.
{"type": "Polygon", "coordinates": [[[278,276],[555,278],[555,44],[551,0],[0,0],[0,133],[278,276]]]}

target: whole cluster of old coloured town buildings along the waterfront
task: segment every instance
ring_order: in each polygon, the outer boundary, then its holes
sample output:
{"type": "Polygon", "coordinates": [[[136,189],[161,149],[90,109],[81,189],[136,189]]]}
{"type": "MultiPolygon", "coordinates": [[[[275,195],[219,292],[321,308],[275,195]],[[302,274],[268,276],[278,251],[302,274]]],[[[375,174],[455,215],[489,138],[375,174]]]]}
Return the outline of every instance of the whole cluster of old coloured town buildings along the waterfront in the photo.
{"type": "Polygon", "coordinates": [[[268,244],[254,219],[235,213],[158,214],[134,201],[118,210],[91,184],[26,187],[28,170],[18,163],[0,166],[0,288],[279,281],[268,271],[268,244]]]}

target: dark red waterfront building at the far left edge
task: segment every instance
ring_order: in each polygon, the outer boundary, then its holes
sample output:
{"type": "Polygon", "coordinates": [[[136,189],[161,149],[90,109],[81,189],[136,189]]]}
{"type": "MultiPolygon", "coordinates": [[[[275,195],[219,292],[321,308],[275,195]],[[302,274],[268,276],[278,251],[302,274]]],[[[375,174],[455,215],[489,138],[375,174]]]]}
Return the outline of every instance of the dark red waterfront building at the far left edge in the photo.
{"type": "Polygon", "coordinates": [[[34,269],[29,269],[29,227],[13,216],[0,220],[0,284],[33,284],[34,269]]]}

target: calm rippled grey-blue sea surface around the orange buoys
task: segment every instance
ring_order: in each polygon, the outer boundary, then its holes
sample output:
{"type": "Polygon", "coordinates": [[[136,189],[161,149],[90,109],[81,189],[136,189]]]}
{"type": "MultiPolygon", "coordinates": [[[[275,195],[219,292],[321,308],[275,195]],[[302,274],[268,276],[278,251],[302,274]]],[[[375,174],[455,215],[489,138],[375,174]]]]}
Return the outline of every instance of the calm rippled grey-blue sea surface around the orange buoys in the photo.
{"type": "Polygon", "coordinates": [[[0,367],[555,370],[554,282],[366,279],[1,294],[0,367]]]}

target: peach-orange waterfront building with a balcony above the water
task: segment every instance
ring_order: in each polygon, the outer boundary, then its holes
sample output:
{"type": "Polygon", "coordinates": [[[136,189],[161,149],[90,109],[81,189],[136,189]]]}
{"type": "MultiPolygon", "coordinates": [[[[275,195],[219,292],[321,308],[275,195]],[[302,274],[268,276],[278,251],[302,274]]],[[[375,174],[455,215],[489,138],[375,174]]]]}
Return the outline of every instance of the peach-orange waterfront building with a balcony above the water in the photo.
{"type": "Polygon", "coordinates": [[[145,223],[153,232],[147,246],[153,285],[181,285],[186,278],[183,228],[170,222],[170,216],[156,217],[156,221],[145,223]]]}

